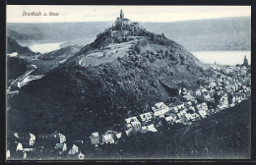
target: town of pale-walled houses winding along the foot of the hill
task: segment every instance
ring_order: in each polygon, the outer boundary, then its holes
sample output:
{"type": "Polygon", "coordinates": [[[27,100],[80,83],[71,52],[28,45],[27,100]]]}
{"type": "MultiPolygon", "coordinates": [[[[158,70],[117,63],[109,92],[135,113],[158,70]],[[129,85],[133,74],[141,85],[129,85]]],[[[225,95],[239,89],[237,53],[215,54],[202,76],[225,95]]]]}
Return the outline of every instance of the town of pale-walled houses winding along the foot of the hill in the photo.
{"type": "Polygon", "coordinates": [[[210,65],[213,77],[202,80],[196,90],[177,88],[184,102],[158,102],[143,114],[124,119],[118,127],[95,131],[86,139],[68,141],[57,131],[52,134],[11,133],[8,136],[6,158],[12,159],[85,159],[81,148],[90,144],[95,151],[107,145],[115,145],[138,134],[159,134],[160,127],[174,125],[190,127],[194,123],[234,107],[251,96],[251,74],[246,57],[242,65],[210,65]],[[43,156],[44,155],[44,156],[43,156]]]}

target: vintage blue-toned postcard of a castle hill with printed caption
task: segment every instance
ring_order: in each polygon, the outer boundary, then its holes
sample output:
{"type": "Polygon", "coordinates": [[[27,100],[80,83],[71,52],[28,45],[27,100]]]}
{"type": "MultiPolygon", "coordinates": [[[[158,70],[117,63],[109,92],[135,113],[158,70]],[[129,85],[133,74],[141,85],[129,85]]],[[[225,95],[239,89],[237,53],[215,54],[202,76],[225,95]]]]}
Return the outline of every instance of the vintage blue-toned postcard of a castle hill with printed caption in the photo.
{"type": "Polygon", "coordinates": [[[250,6],[6,9],[6,160],[250,159],[250,6]]]}

